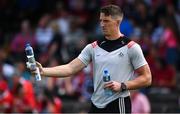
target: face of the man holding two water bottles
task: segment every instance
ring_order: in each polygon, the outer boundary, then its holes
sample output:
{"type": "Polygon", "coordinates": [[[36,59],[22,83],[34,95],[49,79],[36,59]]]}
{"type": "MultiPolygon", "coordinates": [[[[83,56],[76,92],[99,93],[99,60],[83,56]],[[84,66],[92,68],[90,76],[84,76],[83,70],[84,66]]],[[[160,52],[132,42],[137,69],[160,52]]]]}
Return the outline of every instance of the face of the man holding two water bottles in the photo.
{"type": "Polygon", "coordinates": [[[104,13],[100,13],[100,26],[104,35],[108,37],[114,33],[115,29],[119,27],[119,24],[111,15],[106,16],[104,13]]]}

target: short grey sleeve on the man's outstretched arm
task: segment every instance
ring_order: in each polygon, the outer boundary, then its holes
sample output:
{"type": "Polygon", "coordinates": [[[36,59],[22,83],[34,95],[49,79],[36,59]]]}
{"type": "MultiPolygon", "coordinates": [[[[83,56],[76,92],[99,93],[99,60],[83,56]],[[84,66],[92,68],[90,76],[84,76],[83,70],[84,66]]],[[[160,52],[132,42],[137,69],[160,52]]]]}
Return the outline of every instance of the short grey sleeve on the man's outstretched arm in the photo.
{"type": "Polygon", "coordinates": [[[92,46],[88,44],[79,54],[80,59],[86,66],[90,63],[92,57],[92,46]]]}

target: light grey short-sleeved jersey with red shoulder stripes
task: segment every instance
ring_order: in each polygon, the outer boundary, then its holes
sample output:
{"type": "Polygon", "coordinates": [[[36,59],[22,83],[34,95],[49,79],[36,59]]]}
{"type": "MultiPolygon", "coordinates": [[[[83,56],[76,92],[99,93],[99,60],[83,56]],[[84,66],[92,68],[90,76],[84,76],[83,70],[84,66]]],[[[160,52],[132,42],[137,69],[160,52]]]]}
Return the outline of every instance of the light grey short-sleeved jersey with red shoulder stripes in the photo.
{"type": "MultiPolygon", "coordinates": [[[[105,43],[106,41],[101,42],[105,43]]],[[[121,41],[124,43],[123,41],[121,41]]],[[[98,108],[104,108],[108,103],[119,97],[127,97],[130,92],[116,92],[112,96],[104,94],[103,70],[108,69],[111,80],[119,83],[131,80],[135,74],[134,70],[147,64],[140,46],[129,41],[120,48],[104,50],[97,42],[88,44],[80,53],[78,58],[87,66],[93,64],[94,93],[91,100],[98,108]]]]}

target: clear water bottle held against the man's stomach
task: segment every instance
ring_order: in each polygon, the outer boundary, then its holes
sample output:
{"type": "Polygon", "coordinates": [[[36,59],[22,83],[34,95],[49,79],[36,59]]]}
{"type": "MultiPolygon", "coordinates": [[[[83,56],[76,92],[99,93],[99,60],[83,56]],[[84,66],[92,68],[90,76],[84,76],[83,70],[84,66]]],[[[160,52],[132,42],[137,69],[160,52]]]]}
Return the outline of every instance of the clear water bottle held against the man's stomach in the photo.
{"type": "MultiPolygon", "coordinates": [[[[105,83],[111,81],[111,76],[110,76],[109,71],[107,69],[105,69],[103,72],[103,81],[105,83]]],[[[107,96],[111,96],[113,94],[113,92],[108,88],[105,88],[104,92],[105,92],[105,95],[107,95],[107,96]]]]}

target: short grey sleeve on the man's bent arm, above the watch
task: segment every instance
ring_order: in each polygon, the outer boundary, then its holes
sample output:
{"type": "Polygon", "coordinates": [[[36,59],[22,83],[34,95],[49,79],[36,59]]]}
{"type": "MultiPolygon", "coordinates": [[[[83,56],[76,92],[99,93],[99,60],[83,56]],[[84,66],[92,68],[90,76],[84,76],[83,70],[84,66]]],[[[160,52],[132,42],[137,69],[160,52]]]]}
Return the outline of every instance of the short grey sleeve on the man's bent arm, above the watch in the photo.
{"type": "Polygon", "coordinates": [[[138,69],[141,66],[147,64],[142,49],[137,43],[135,43],[132,47],[129,48],[129,56],[134,69],[138,69]]]}

